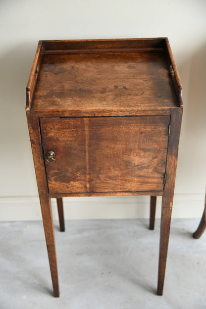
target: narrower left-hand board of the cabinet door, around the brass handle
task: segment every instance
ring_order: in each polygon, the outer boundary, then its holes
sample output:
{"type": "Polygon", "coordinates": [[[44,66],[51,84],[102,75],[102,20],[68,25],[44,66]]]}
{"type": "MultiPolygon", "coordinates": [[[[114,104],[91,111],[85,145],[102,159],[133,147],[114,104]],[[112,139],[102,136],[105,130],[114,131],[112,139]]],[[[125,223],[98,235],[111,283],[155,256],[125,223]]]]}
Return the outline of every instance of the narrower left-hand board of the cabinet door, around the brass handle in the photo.
{"type": "Polygon", "coordinates": [[[45,158],[55,154],[55,161],[45,160],[49,192],[87,192],[83,118],[42,118],[40,125],[45,158]]]}

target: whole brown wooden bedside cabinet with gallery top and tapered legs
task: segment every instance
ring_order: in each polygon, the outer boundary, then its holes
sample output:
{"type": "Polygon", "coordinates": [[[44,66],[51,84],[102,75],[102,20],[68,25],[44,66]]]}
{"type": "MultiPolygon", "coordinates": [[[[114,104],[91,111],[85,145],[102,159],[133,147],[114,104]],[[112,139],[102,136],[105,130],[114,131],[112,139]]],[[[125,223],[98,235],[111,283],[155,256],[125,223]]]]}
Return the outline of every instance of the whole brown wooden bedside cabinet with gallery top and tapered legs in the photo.
{"type": "Polygon", "coordinates": [[[26,113],[51,268],[59,296],[50,198],[162,196],[157,294],[162,295],[182,119],[182,86],[167,38],[40,41],[26,113]]]}

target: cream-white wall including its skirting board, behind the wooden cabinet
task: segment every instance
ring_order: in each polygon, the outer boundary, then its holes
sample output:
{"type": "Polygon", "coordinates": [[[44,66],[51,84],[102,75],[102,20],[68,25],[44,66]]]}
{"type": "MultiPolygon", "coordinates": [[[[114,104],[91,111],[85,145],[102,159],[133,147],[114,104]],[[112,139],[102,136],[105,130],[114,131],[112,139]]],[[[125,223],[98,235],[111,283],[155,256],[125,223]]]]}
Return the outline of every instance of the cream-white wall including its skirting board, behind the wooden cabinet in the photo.
{"type": "MultiPolygon", "coordinates": [[[[185,104],[173,216],[201,216],[206,0],[0,0],[1,220],[41,218],[25,116],[25,88],[38,41],[138,37],[169,38],[185,104]]],[[[66,200],[66,217],[147,217],[148,203],[148,197],[72,198],[66,200]]]]}

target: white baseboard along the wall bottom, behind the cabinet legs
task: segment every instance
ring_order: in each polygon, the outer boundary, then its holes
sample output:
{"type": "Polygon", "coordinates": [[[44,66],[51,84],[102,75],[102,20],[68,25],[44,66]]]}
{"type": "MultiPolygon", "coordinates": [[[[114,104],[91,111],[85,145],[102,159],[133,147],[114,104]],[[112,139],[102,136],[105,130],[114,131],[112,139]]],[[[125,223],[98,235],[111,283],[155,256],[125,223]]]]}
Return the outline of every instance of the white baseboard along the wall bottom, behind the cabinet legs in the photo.
{"type": "MultiPolygon", "coordinates": [[[[172,217],[201,217],[205,205],[201,194],[174,196],[172,217]]],[[[65,219],[149,218],[150,197],[64,198],[65,219]]],[[[55,199],[51,200],[53,218],[58,218],[55,199]]],[[[161,198],[157,198],[156,218],[160,217],[161,198]]],[[[42,220],[38,197],[0,198],[0,221],[42,220]]]]}

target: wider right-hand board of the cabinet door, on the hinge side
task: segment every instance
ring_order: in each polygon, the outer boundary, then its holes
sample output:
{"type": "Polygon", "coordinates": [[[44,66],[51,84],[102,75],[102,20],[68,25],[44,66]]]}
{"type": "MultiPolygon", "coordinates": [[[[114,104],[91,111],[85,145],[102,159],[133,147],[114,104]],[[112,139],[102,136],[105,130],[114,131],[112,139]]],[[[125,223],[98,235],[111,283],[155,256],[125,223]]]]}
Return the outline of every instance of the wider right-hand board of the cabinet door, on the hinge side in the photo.
{"type": "Polygon", "coordinates": [[[89,122],[90,191],[163,190],[169,117],[89,122]]]}

